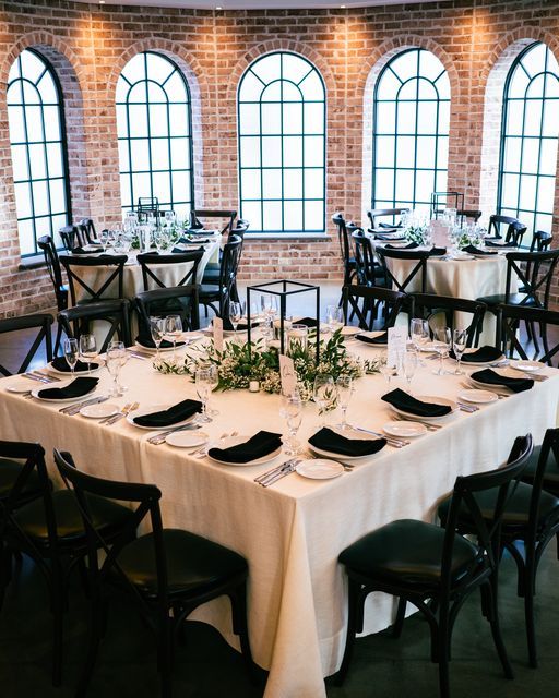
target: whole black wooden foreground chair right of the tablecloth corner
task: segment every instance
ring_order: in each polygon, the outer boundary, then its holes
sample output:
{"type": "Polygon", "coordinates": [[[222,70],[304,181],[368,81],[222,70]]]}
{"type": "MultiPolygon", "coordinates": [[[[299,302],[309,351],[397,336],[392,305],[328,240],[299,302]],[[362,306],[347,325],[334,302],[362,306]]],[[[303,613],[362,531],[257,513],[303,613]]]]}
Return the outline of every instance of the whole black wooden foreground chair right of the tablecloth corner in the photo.
{"type": "MultiPolygon", "coordinates": [[[[452,629],[465,599],[481,591],[481,611],[489,621],[504,674],[512,669],[502,641],[497,611],[499,528],[507,503],[514,492],[532,453],[532,436],[515,440],[504,467],[456,478],[445,528],[403,519],[382,526],[346,547],[340,555],[349,581],[347,640],[334,681],[343,682],[352,658],[355,636],[362,631],[364,606],[373,591],[400,599],[395,635],[400,635],[406,603],[425,616],[431,631],[431,661],[439,664],[441,698],[450,695],[449,661],[452,629]],[[483,517],[476,497],[498,490],[489,516],[483,517]],[[456,531],[461,512],[471,512],[477,544],[456,531]]],[[[471,685],[472,690],[474,687],[471,685]]]]}

